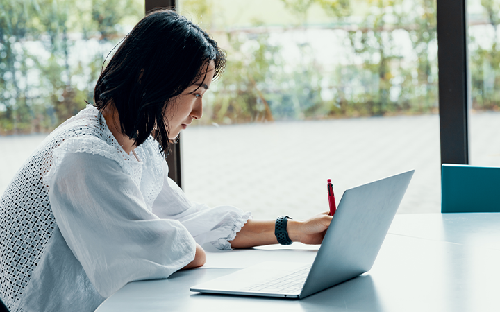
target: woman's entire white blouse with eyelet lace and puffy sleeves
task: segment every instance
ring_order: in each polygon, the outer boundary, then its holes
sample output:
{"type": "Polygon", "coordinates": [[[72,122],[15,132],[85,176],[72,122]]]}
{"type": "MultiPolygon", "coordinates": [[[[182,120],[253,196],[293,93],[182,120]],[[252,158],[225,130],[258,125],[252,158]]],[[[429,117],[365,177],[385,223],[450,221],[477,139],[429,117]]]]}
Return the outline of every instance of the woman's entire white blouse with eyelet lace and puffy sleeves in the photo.
{"type": "Polygon", "coordinates": [[[129,281],[167,278],[195,241],[231,249],[250,213],[192,203],[149,138],[126,154],[88,105],[0,198],[0,297],[10,311],[94,311],[129,281]]]}

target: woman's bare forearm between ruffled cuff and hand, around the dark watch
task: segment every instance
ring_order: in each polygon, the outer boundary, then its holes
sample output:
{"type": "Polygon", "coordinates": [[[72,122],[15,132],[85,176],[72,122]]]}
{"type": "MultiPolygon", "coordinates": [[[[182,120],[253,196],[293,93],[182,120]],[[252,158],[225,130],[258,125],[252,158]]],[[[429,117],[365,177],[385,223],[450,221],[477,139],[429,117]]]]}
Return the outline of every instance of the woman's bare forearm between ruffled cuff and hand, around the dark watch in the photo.
{"type": "MultiPolygon", "coordinates": [[[[241,231],[236,234],[235,239],[230,241],[232,248],[251,248],[260,245],[277,244],[274,235],[274,220],[248,220],[241,231]]],[[[292,241],[300,241],[299,225],[301,221],[288,220],[287,231],[292,241]]]]}

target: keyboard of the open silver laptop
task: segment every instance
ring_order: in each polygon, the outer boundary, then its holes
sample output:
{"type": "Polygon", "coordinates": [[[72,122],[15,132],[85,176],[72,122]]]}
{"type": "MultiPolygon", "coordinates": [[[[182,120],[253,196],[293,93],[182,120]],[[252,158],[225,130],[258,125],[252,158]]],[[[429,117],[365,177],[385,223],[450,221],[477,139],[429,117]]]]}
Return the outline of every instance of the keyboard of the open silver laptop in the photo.
{"type": "Polygon", "coordinates": [[[263,293],[296,293],[302,289],[303,284],[310,271],[311,266],[305,266],[277,279],[269,279],[263,283],[253,284],[246,291],[258,291],[263,293]]]}

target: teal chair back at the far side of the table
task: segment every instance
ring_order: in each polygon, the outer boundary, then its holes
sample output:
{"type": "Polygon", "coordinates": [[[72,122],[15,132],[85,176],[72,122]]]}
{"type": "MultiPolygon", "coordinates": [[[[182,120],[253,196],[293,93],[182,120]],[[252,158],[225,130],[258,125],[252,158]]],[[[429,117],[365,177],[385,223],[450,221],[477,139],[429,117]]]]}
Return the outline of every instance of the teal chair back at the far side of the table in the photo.
{"type": "Polygon", "coordinates": [[[442,164],[441,212],[500,212],[500,168],[442,164]]]}

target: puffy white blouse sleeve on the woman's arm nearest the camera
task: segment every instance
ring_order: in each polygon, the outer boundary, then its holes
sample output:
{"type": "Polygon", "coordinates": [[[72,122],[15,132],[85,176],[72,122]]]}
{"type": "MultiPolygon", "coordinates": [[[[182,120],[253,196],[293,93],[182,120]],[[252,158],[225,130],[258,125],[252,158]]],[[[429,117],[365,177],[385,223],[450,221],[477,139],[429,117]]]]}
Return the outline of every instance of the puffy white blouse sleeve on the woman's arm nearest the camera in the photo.
{"type": "Polygon", "coordinates": [[[55,163],[47,183],[56,223],[103,297],[129,281],[169,277],[194,259],[188,230],[149,211],[117,162],[66,153],[55,163]]]}

